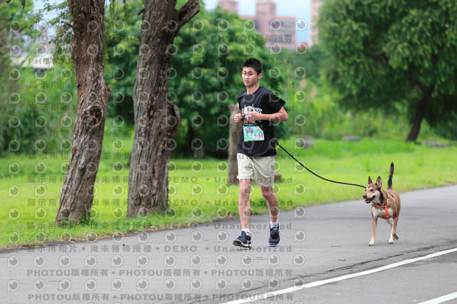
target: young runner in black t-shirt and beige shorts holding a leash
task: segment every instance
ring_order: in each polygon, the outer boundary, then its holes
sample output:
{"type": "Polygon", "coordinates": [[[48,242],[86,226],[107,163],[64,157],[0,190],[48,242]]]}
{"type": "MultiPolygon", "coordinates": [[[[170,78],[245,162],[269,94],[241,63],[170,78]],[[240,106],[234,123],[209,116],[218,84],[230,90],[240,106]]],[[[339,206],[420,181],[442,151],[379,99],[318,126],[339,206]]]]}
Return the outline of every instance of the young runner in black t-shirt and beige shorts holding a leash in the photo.
{"type": "Polygon", "coordinates": [[[251,217],[251,202],[249,193],[251,182],[261,187],[263,198],[270,212],[270,238],[268,244],[276,246],[279,243],[278,198],[273,192],[274,163],[276,147],[274,138],[274,121],[287,121],[288,115],[284,103],[273,92],[260,86],[262,64],[257,59],[244,61],[242,68],[243,83],[246,90],[236,96],[241,114],[236,114],[236,123],[243,121],[237,143],[238,180],[240,184],[238,213],[241,221],[241,235],[233,240],[233,245],[251,248],[251,233],[249,218],[251,217]],[[255,176],[255,178],[254,178],[255,176]]]}

